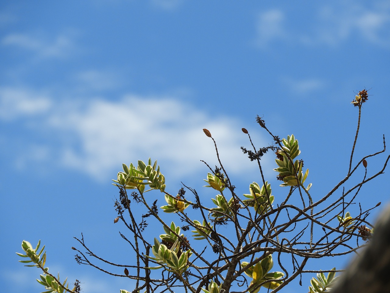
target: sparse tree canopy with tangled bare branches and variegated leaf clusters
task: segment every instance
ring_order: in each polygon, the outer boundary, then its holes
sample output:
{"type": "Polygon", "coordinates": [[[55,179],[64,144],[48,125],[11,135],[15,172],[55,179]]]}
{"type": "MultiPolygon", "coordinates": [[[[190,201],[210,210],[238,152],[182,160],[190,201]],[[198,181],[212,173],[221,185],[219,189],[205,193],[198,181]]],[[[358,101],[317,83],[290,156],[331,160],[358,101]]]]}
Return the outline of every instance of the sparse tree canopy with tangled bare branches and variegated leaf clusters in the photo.
{"type": "MultiPolygon", "coordinates": [[[[363,89],[351,102],[358,108],[358,123],[347,174],[328,193],[316,197],[318,200],[313,200],[310,194],[309,169],[304,166],[304,152],[301,154],[298,139],[294,134],[287,138],[273,134],[259,116],[257,123],[269,134],[270,144],[255,146],[248,130],[242,129],[252,148],[241,149],[257,163],[260,174],[243,174],[250,181],[260,178],[258,182],[248,183],[245,191],[238,191],[230,180],[217,142],[207,129],[203,129],[204,134],[213,142],[219,163],[211,167],[203,162],[209,169],[204,187],[215,191],[210,201],[184,183],[177,193],[172,193],[165,185],[163,168],[151,158],[147,162],[123,164],[113,179],[119,191],[115,201],[118,216],[114,223],[128,229],[126,233],[120,232],[120,236],[131,248],[134,263],[106,260],[93,252],[83,236],[75,238],[77,245],[72,247],[77,263],[135,280],[135,288],[121,289],[121,293],[277,292],[305,273],[316,273],[310,284],[301,284],[309,286],[310,293],[331,291],[339,269],[307,270],[305,266],[315,259],[336,259],[356,252],[369,241],[375,232],[367,218],[380,202],[365,207],[359,204],[357,214],[351,214],[348,209],[358,202],[362,186],[384,173],[390,157],[387,156],[380,170],[369,170],[370,159],[385,152],[383,136],[381,150],[353,162],[362,104],[367,100],[367,90],[363,89]],[[267,152],[276,156],[273,170],[280,180],[277,195],[273,194],[263,172],[261,159],[267,152]],[[351,176],[359,168],[364,169],[364,175],[353,182],[351,176]],[[165,205],[159,206],[157,198],[160,197],[153,196],[154,192],[164,195],[165,205]],[[298,204],[292,203],[292,198],[298,198],[298,204]],[[165,214],[172,214],[169,221],[165,214]],[[148,225],[153,225],[154,237],[145,233],[148,225]],[[226,227],[225,233],[220,226],[226,227]]],[[[45,287],[45,292],[80,292],[78,280],[70,289],[67,279],[60,281],[59,274],[49,272],[45,266],[46,252],[40,243],[34,248],[23,241],[22,249],[23,253],[18,255],[26,260],[21,262],[31,263],[27,266],[43,271],[37,281],[45,287]]]]}

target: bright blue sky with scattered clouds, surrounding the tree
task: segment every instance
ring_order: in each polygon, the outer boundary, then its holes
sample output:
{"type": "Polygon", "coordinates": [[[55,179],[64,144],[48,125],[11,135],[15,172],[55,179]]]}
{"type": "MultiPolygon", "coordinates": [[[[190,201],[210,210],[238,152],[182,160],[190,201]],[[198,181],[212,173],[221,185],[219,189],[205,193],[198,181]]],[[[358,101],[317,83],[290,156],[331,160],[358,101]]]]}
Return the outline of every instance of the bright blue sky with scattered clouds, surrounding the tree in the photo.
{"type": "MultiPolygon", "coordinates": [[[[272,140],[256,115],[276,135],[293,133],[312,195],[321,198],[348,169],[354,91],[371,88],[372,95],[356,161],[381,150],[382,135],[389,136],[389,53],[388,1],[2,2],[2,288],[42,289],[38,270],[14,254],[23,239],[42,239],[51,272],[78,278],[84,292],[131,291],[127,280],[78,266],[73,236],[83,232],[95,251],[131,263],[118,253],[128,249],[118,234],[125,229],[112,222],[117,190],[110,180],[122,163],[158,159],[169,192],[183,181],[205,200],[214,196],[202,188],[207,168],[199,160],[216,164],[203,128],[215,137],[238,194],[259,181],[240,150],[249,147],[241,127],[259,147],[272,140]]],[[[370,160],[369,173],[383,159],[370,160]]],[[[263,163],[282,197],[274,157],[263,163]]],[[[387,202],[388,180],[385,173],[370,182],[358,200],[387,202]]],[[[162,230],[149,233],[152,239],[162,230]]],[[[306,290],[311,277],[286,290],[306,290]]]]}

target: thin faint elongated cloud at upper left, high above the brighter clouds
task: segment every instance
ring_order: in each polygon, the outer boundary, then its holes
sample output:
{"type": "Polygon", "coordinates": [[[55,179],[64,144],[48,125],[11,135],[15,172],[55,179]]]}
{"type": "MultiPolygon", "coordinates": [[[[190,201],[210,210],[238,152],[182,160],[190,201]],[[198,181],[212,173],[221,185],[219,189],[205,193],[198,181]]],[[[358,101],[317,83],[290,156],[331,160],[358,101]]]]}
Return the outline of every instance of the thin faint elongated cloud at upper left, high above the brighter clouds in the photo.
{"type": "Polygon", "coordinates": [[[61,34],[52,40],[47,40],[39,35],[13,33],[5,36],[1,43],[4,46],[17,46],[34,51],[43,58],[67,57],[76,49],[71,36],[67,34],[61,34]]]}

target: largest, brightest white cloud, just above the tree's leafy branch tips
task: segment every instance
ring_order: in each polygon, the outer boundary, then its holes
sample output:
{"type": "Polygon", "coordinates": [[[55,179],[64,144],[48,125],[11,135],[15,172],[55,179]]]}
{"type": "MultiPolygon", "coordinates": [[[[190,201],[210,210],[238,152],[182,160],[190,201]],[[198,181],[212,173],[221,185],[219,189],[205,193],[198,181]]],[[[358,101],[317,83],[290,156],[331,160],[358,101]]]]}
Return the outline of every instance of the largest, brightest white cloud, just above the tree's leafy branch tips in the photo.
{"type": "Polygon", "coordinates": [[[203,167],[200,159],[213,167],[217,163],[213,142],[203,128],[213,133],[233,172],[245,168],[238,161],[247,161],[239,149],[238,138],[243,135],[237,121],[207,117],[170,97],[128,95],[120,102],[95,100],[85,112],[57,115],[50,124],[71,128],[80,139],[82,151],[64,150],[63,164],[97,177],[122,163],[149,156],[169,164],[174,175],[188,175],[203,167]]]}

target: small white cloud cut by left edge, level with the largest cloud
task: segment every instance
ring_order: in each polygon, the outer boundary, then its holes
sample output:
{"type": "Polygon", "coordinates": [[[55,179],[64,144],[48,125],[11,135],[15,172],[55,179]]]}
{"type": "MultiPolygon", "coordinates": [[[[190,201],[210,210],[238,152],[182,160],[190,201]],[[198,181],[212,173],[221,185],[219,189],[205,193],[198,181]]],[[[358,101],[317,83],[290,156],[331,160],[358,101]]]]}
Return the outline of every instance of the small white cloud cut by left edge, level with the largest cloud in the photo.
{"type": "Polygon", "coordinates": [[[0,118],[11,120],[46,113],[52,105],[44,93],[0,88],[0,118]]]}

